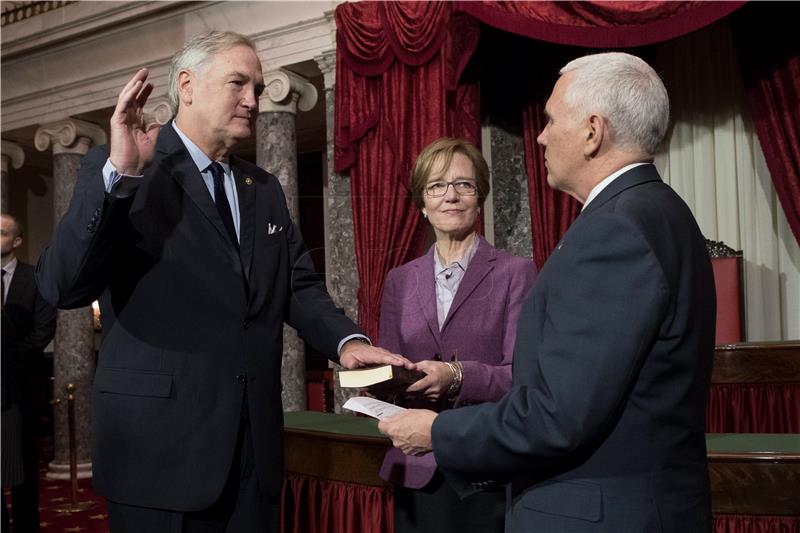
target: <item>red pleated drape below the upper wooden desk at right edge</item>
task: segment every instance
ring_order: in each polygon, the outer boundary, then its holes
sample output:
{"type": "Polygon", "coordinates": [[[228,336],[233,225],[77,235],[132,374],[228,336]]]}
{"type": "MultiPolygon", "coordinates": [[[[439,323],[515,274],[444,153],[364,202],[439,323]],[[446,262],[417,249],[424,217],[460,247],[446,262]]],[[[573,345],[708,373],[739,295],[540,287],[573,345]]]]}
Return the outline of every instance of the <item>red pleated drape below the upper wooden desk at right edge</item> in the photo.
{"type": "Polygon", "coordinates": [[[800,384],[719,383],[711,386],[708,433],[800,433],[800,384]]]}

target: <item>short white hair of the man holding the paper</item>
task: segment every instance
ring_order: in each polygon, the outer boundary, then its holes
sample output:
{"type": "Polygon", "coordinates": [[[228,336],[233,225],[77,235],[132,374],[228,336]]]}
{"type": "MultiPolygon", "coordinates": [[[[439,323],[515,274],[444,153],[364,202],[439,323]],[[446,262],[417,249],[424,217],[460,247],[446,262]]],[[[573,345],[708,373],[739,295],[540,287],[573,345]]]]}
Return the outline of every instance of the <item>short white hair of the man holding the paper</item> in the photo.
{"type": "Polygon", "coordinates": [[[602,115],[621,148],[654,154],[669,126],[669,97],[661,78],[642,59],[621,52],[593,54],[567,63],[574,72],[565,102],[577,119],[602,115]]]}

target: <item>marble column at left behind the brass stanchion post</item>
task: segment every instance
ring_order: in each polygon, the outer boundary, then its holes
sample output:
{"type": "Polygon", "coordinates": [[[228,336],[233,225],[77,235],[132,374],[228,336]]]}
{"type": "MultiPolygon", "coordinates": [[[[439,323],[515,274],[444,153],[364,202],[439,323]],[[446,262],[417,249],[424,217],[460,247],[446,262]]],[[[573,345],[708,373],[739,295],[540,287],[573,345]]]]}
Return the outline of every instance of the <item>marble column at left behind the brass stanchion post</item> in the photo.
{"type": "MultiPolygon", "coordinates": [[[[56,223],[67,211],[77,180],[81,157],[93,144],[104,144],[102,128],[89,122],[67,119],[41,126],[34,137],[36,149],[53,151],[53,211],[56,223]]],[[[75,435],[78,477],[92,475],[90,442],[90,392],[94,378],[94,327],[92,308],[59,310],[53,352],[53,406],[55,458],[48,465],[49,479],[69,479],[69,429],[66,386],[75,385],[75,435]]]]}

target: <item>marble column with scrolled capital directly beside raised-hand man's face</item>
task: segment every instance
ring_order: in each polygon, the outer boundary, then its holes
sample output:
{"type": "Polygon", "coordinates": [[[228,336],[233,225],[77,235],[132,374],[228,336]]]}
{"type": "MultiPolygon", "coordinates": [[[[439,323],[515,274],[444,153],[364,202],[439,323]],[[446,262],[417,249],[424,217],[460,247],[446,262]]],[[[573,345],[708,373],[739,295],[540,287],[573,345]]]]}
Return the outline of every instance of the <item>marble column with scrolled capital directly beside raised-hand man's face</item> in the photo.
{"type": "MultiPolygon", "coordinates": [[[[295,223],[299,223],[297,175],[297,111],[308,111],[317,102],[317,90],[307,80],[285,70],[264,75],[264,93],[259,101],[256,123],[256,162],[274,174],[286,195],[286,204],[295,223]]],[[[305,347],[297,331],[283,328],[283,408],[306,408],[305,347]]]]}

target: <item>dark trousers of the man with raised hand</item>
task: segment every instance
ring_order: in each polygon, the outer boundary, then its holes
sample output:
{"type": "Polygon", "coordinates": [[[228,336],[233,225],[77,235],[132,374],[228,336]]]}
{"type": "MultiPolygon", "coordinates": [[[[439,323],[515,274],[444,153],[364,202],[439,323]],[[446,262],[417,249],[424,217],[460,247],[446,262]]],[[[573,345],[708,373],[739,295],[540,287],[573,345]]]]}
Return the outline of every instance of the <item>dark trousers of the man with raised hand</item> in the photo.
{"type": "Polygon", "coordinates": [[[259,487],[246,415],[228,480],[219,500],[208,509],[183,513],[108,500],[111,533],[277,533],[279,511],[278,504],[270,502],[259,487]]]}

